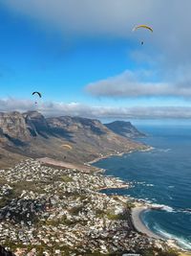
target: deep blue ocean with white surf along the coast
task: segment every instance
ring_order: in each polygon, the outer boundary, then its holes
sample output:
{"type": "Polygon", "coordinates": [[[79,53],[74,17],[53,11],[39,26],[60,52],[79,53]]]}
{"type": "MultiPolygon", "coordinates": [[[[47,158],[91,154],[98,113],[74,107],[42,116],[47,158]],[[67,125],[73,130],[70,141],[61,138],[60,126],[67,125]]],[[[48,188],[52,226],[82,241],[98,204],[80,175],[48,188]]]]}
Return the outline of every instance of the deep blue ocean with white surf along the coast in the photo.
{"type": "Polygon", "coordinates": [[[161,205],[141,219],[163,238],[175,239],[191,250],[191,126],[139,127],[148,134],[139,141],[154,147],[96,162],[105,175],[131,181],[130,189],[110,189],[106,194],[128,195],[161,205]]]}

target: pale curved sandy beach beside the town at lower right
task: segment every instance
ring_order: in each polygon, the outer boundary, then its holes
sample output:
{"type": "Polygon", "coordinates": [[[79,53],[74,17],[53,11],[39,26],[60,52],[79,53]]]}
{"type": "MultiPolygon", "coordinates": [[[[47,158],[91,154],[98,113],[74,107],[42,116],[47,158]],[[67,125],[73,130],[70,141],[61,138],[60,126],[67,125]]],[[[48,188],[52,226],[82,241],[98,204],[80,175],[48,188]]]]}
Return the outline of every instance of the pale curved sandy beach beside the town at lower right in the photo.
{"type": "Polygon", "coordinates": [[[135,208],[132,209],[132,221],[134,223],[134,226],[138,230],[138,232],[146,234],[151,238],[162,239],[161,237],[153,233],[150,229],[148,229],[140,220],[140,214],[147,209],[148,206],[136,206],[135,208]]]}

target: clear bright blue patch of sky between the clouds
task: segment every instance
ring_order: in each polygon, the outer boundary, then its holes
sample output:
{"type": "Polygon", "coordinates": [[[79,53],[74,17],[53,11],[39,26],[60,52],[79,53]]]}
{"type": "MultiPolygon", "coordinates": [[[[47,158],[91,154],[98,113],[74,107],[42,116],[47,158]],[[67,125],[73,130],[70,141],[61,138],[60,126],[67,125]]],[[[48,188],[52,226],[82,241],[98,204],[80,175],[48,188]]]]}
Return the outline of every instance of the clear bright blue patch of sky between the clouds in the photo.
{"type": "Polygon", "coordinates": [[[126,39],[67,38],[3,6],[0,23],[1,97],[30,99],[39,90],[50,101],[96,103],[84,92],[86,84],[136,69],[126,39]]]}

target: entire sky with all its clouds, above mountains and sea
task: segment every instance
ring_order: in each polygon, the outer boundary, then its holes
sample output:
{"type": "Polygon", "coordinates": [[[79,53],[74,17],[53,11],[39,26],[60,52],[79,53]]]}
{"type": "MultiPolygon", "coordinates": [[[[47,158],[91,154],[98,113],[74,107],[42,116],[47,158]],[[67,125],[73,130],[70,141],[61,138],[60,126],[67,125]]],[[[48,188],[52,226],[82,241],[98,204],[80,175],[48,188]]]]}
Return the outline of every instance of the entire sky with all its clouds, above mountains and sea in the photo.
{"type": "Polygon", "coordinates": [[[189,120],[190,10],[190,0],[0,0],[0,111],[189,120]],[[139,24],[154,33],[132,32],[139,24]]]}

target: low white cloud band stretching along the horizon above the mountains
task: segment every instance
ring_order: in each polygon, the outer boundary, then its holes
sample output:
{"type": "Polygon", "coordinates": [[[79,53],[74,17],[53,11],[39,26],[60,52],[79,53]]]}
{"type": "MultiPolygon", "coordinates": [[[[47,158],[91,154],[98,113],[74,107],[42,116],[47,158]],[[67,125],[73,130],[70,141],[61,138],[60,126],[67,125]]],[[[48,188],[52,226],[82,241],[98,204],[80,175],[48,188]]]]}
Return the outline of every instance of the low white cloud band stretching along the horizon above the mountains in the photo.
{"type": "Polygon", "coordinates": [[[1,99],[0,111],[37,110],[45,116],[81,116],[97,119],[160,119],[160,118],[191,118],[191,107],[153,106],[153,107],[103,107],[81,105],[78,103],[40,103],[19,99],[1,99]]]}

